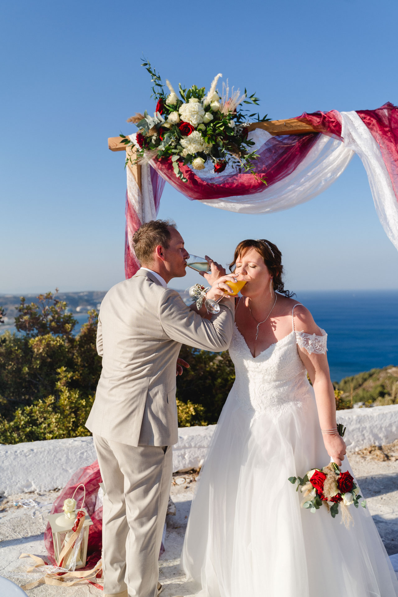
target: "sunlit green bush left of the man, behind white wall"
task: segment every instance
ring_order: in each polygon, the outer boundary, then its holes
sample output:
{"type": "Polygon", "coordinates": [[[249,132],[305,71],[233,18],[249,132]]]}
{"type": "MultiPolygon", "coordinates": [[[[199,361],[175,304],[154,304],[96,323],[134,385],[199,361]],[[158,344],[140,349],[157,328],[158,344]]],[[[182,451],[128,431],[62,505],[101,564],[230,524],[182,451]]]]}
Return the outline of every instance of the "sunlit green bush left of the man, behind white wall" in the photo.
{"type": "Polygon", "coordinates": [[[101,373],[97,312],[77,323],[67,305],[47,293],[39,306],[21,297],[21,335],[0,336],[0,443],[90,435],[84,422],[101,373]]]}

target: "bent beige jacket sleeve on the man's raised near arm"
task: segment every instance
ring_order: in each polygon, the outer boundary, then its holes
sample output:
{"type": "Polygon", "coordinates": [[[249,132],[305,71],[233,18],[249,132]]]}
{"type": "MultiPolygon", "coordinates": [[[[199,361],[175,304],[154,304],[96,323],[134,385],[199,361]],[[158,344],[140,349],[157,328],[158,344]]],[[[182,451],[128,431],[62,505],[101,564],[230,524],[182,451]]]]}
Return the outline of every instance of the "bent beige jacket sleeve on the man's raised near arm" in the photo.
{"type": "Polygon", "coordinates": [[[175,290],[166,289],[159,301],[159,320],[169,338],[202,350],[221,352],[229,347],[235,309],[230,298],[220,303],[211,321],[186,306],[175,290]]]}

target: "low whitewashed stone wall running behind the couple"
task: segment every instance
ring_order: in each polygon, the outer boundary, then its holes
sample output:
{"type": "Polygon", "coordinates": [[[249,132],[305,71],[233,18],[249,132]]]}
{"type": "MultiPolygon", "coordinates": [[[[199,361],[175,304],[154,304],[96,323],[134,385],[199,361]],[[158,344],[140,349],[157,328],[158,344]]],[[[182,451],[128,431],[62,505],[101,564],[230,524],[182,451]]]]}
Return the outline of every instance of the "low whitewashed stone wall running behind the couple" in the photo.
{"type": "MultiPolygon", "coordinates": [[[[398,405],[338,411],[337,422],[347,427],[344,439],[351,451],[398,439],[398,405]]],[[[202,464],[214,429],[209,425],[178,430],[174,472],[202,464]]],[[[0,445],[0,495],[64,487],[76,470],[95,459],[91,437],[0,445]]]]}

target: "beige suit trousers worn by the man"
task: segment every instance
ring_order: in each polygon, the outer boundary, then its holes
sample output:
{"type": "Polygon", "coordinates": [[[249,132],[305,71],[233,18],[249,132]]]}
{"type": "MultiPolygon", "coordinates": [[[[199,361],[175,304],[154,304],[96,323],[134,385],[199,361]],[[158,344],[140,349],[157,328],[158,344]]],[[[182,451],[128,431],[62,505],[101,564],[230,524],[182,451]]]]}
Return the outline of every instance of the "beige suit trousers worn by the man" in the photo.
{"type": "Polygon", "coordinates": [[[94,435],[106,494],[104,594],[156,597],[172,479],[172,447],[131,446],[94,435]]]}

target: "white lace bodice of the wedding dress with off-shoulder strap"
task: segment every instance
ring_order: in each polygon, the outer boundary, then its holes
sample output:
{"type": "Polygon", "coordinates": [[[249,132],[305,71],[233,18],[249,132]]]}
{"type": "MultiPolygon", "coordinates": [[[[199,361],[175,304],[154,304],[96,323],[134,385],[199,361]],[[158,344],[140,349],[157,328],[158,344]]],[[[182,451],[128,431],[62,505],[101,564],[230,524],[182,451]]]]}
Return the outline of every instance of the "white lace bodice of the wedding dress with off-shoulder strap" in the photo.
{"type": "Polygon", "coordinates": [[[314,398],[314,393],[298,355],[297,344],[308,353],[324,353],[326,338],[324,330],[322,336],[316,336],[293,329],[288,336],[254,357],[235,325],[229,353],[236,377],[229,398],[255,414],[271,411],[278,416],[289,408],[305,407],[307,401],[314,398]]]}

